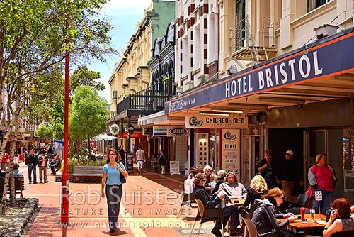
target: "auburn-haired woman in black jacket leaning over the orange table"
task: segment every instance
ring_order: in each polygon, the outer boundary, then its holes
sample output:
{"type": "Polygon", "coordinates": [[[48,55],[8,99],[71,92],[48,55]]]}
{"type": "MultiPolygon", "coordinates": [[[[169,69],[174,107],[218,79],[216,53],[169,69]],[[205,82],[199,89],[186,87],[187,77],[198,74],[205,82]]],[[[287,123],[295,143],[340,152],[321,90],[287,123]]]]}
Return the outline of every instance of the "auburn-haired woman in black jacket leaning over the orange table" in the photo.
{"type": "Polygon", "coordinates": [[[262,204],[254,211],[252,216],[252,221],[257,226],[258,233],[267,232],[282,232],[285,236],[296,236],[295,233],[291,231],[284,231],[283,229],[290,222],[294,222],[297,216],[292,213],[287,214],[276,214],[276,207],[280,206],[284,200],[284,191],[278,187],[270,189],[267,194],[262,196],[262,204]],[[279,223],[277,218],[285,219],[279,223]]]}

